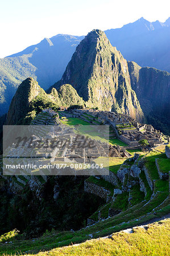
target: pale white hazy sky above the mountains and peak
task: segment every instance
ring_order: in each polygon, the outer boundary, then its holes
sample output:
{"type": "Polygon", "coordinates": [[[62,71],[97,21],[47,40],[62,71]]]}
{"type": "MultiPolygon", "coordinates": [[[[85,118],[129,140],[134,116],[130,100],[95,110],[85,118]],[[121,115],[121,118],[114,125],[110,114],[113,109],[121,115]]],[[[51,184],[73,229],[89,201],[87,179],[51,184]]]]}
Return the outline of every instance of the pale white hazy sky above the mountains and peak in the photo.
{"type": "Polygon", "coordinates": [[[165,22],[169,10],[169,0],[0,0],[0,57],[57,34],[86,35],[142,16],[165,22]]]}

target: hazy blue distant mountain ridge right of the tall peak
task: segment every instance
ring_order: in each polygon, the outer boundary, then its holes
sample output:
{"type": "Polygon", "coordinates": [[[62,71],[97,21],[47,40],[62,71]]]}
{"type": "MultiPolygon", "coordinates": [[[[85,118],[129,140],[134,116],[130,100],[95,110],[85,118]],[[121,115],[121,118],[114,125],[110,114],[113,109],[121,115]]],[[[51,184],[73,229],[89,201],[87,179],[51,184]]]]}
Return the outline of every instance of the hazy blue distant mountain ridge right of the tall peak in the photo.
{"type": "Polygon", "coordinates": [[[164,23],[142,17],[105,34],[125,59],[170,72],[170,17],[164,23]]]}

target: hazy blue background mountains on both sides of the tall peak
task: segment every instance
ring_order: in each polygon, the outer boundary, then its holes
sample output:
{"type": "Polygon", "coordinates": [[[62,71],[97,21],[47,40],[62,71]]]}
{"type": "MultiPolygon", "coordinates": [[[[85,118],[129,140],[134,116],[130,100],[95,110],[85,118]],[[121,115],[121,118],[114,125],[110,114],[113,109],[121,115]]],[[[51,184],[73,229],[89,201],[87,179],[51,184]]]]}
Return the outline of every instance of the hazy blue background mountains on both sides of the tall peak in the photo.
{"type": "MultiPolygon", "coordinates": [[[[170,71],[170,18],[164,23],[140,18],[105,34],[125,59],[141,67],[170,71]]],[[[59,34],[0,59],[0,115],[7,113],[16,88],[27,77],[33,77],[43,89],[59,81],[82,39],[84,36],[59,34]]]]}

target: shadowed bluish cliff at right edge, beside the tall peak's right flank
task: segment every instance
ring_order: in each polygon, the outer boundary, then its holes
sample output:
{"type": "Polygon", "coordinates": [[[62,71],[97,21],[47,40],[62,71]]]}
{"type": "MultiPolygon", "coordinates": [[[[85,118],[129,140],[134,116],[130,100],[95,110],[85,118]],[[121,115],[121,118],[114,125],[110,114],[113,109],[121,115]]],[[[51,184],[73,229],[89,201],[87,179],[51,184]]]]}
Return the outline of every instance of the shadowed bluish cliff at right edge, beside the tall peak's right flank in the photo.
{"type": "MultiPolygon", "coordinates": [[[[132,61],[128,61],[128,71],[131,87],[138,97],[144,115],[152,115],[165,125],[170,125],[170,73],[155,68],[141,68],[132,61]]],[[[153,125],[156,127],[156,123],[153,125]]],[[[160,128],[161,126],[157,127],[160,128]]]]}

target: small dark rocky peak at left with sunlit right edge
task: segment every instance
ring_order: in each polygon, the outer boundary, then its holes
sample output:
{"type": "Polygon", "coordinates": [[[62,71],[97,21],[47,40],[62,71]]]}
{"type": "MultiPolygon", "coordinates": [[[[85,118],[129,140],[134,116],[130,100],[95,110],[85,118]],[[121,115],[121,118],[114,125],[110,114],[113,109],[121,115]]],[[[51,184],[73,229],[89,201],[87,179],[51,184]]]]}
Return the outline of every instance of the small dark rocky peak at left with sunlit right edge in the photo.
{"type": "Polygon", "coordinates": [[[11,101],[5,124],[16,125],[19,119],[28,113],[30,102],[38,96],[41,90],[38,82],[32,77],[24,80],[11,101]]]}

